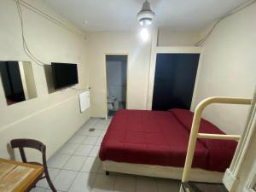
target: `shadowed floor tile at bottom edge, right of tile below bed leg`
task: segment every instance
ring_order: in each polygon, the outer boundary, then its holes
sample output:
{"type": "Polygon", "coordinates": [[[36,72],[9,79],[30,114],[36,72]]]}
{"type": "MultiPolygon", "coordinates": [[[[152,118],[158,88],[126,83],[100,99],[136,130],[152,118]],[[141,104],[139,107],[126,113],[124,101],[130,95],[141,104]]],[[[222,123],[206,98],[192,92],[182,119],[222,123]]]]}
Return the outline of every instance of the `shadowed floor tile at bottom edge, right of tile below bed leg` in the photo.
{"type": "Polygon", "coordinates": [[[130,175],[117,175],[115,184],[115,192],[136,192],[136,177],[130,175]]]}

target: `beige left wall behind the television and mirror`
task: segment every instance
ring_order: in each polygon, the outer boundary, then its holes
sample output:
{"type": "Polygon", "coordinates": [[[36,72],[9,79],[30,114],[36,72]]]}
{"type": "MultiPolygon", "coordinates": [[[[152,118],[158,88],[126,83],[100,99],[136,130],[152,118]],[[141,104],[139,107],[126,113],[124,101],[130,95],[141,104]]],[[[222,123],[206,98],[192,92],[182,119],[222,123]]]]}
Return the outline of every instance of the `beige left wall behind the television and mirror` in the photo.
{"type": "MultiPolygon", "coordinates": [[[[50,15],[58,15],[43,1],[29,1],[50,15]]],[[[49,20],[22,8],[27,44],[40,60],[79,64],[79,87],[89,84],[85,62],[84,38],[56,26],[49,20]]],[[[30,61],[24,54],[20,22],[15,1],[0,2],[0,61],[30,61]]],[[[6,144],[16,137],[38,139],[47,145],[48,156],[53,154],[89,118],[90,111],[79,112],[79,91],[62,90],[49,95],[44,67],[32,62],[38,97],[7,106],[0,85],[0,156],[9,158],[6,144]]],[[[34,153],[30,154],[30,157],[34,153]]],[[[38,157],[37,157],[38,159],[38,157]]]]}

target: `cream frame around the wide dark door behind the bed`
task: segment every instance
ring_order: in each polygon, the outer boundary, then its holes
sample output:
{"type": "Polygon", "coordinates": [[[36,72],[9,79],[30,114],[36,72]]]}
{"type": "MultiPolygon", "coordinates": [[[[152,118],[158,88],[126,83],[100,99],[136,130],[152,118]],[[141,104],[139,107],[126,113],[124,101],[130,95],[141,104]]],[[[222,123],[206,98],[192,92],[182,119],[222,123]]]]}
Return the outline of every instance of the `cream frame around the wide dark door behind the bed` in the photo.
{"type": "Polygon", "coordinates": [[[202,48],[201,47],[155,47],[152,49],[152,55],[150,59],[150,67],[148,73],[148,96],[147,96],[147,109],[152,110],[153,94],[154,94],[154,73],[156,66],[157,54],[199,54],[198,67],[195,77],[195,86],[191,101],[190,110],[195,108],[195,90],[199,81],[199,73],[201,71],[202,62],[202,48]]]}

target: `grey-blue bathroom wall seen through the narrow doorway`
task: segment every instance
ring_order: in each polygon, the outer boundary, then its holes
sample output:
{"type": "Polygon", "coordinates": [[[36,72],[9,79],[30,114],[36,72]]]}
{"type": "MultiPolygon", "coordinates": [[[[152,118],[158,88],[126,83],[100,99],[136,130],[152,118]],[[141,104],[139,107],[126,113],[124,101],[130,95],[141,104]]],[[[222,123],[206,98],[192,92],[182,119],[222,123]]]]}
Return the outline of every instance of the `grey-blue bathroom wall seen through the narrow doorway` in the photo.
{"type": "Polygon", "coordinates": [[[108,96],[116,96],[119,102],[126,97],[126,62],[107,61],[108,96]]]}

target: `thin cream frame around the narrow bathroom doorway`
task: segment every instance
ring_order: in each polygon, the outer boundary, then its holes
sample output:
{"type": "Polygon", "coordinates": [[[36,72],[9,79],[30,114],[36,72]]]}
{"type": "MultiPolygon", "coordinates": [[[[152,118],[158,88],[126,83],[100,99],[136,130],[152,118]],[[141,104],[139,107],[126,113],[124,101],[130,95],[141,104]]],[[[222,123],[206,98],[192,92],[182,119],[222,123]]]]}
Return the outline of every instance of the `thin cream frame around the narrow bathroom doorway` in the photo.
{"type": "Polygon", "coordinates": [[[106,107],[105,107],[105,119],[108,119],[108,76],[107,76],[107,55],[126,55],[127,56],[127,61],[126,61],[126,96],[125,96],[125,108],[128,107],[128,64],[129,64],[129,54],[128,53],[105,53],[104,54],[104,67],[105,67],[105,103],[106,103],[106,107]]]}

